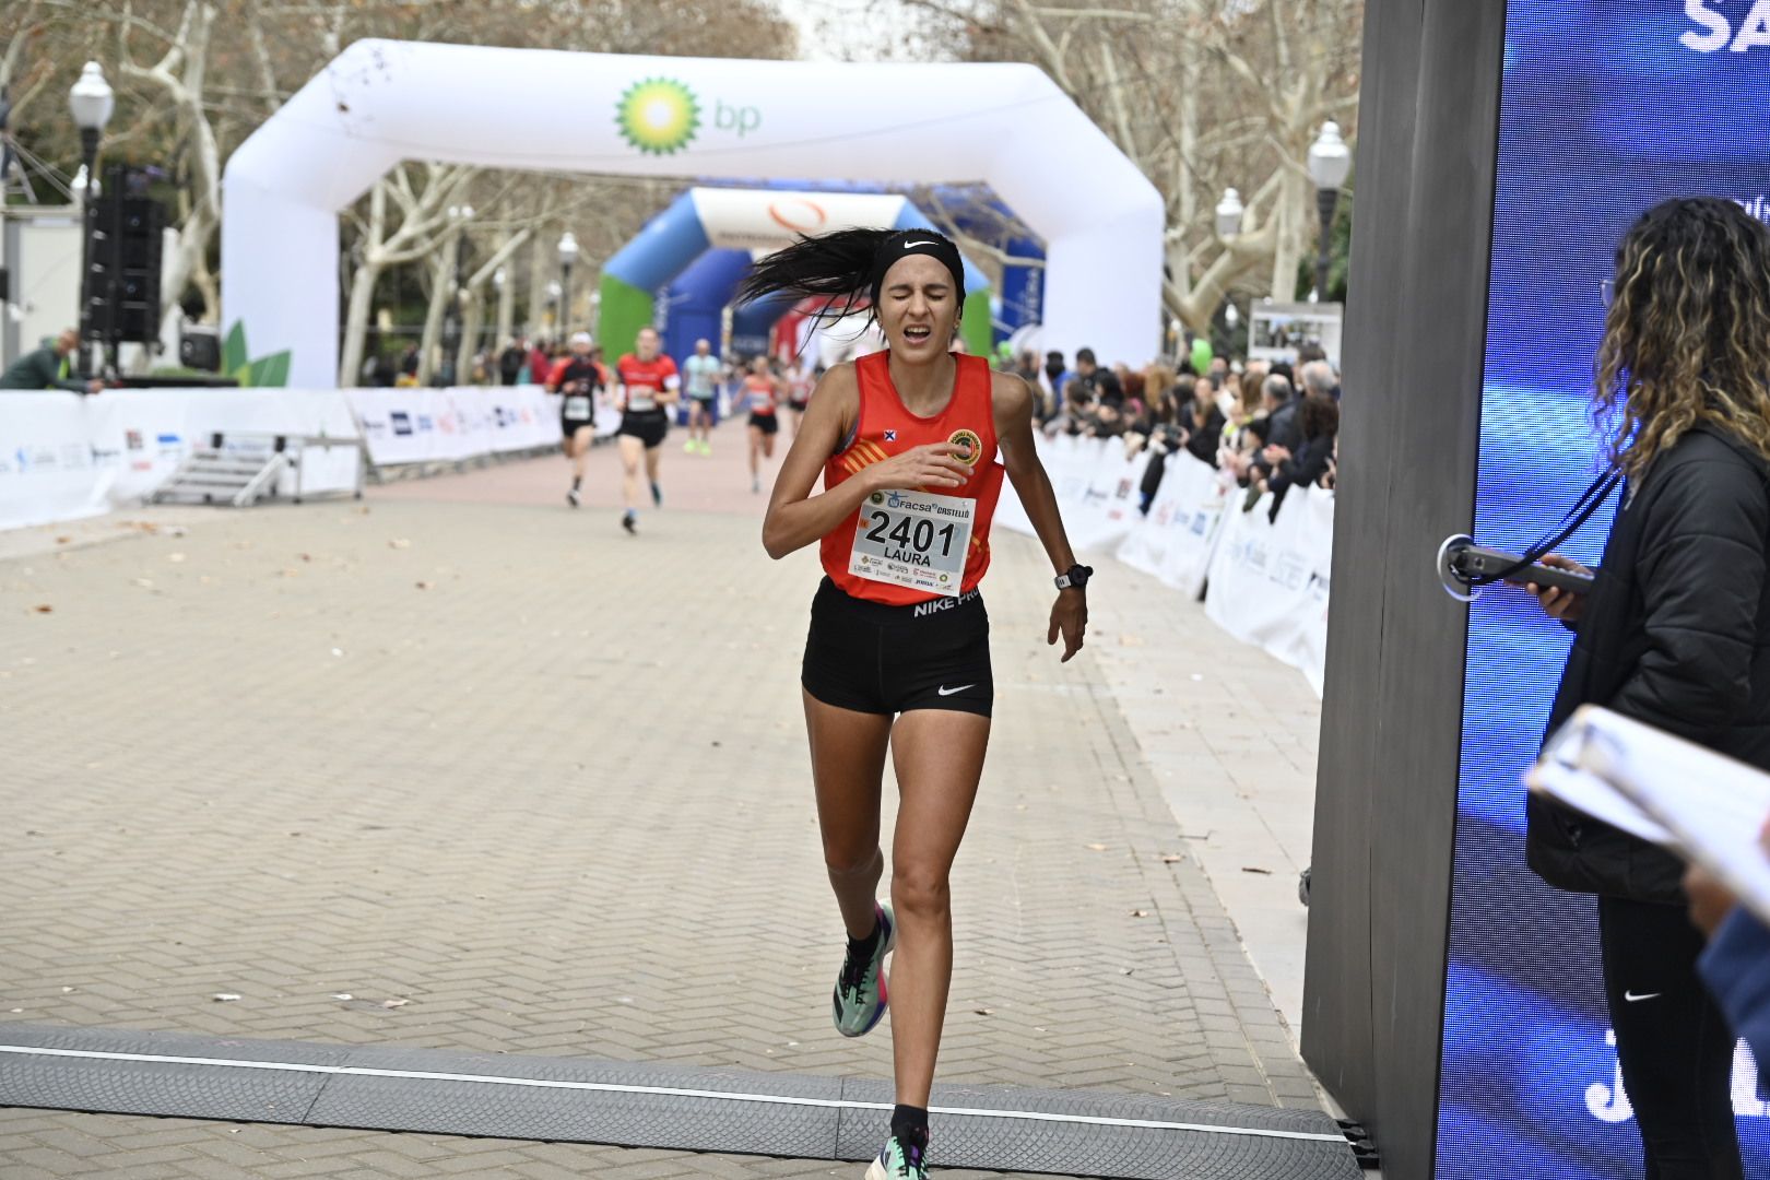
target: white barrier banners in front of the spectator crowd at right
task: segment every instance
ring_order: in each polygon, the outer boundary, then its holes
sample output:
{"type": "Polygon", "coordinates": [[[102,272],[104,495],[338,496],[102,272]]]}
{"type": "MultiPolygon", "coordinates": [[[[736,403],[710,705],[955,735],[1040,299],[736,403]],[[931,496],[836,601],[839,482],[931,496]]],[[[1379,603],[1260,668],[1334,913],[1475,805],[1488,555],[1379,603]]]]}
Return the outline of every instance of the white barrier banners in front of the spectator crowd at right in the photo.
{"type": "MultiPolygon", "coordinates": [[[[1161,487],[1138,515],[1149,455],[1124,456],[1119,439],[1037,439],[1064,527],[1076,552],[1108,548],[1188,594],[1230,635],[1303,670],[1317,693],[1328,669],[1333,492],[1294,488],[1278,518],[1273,497],[1241,511],[1243,490],[1186,451],[1168,456],[1161,487]]],[[[1032,533],[1005,488],[995,522],[1032,533]]]]}

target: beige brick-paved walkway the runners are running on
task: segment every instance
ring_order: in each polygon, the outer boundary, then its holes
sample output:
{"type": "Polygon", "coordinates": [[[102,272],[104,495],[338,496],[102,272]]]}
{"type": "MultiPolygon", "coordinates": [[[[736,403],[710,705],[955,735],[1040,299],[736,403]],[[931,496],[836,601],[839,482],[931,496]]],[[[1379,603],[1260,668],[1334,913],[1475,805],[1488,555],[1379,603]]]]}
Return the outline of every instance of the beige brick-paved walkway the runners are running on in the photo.
{"type": "MultiPolygon", "coordinates": [[[[565,508],[565,462],[536,460],[117,545],[14,541],[0,1019],[889,1077],[889,1035],[828,1026],[841,931],[796,688],[816,561],[761,554],[735,442],[667,453],[669,508],[637,540],[565,508]]],[[[589,487],[618,502],[611,448],[589,487]]],[[[1274,780],[1313,750],[1308,688],[1127,571],[1058,665],[1046,579],[1032,541],[1000,538],[942,1079],[1315,1106],[1220,899],[1271,904],[1283,950],[1306,830],[1276,819],[1274,780]],[[1127,718],[1172,741],[1150,752],[1127,718]],[[1182,828],[1170,803],[1189,801],[1211,810],[1182,828]],[[1271,856],[1228,888],[1250,840],[1271,856]]],[[[855,1171],[44,1111],[0,1111],[0,1162],[855,1171]]]]}

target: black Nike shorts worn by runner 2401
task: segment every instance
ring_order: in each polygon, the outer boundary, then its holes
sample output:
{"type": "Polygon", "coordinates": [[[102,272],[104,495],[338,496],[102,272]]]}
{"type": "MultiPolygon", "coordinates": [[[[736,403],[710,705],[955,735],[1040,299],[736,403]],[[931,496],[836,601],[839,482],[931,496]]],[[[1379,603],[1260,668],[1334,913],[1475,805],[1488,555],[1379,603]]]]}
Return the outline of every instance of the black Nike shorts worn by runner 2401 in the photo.
{"type": "Polygon", "coordinates": [[[855,713],[952,709],[989,716],[989,614],[979,591],[913,607],[853,598],[823,579],[800,683],[855,713]]]}

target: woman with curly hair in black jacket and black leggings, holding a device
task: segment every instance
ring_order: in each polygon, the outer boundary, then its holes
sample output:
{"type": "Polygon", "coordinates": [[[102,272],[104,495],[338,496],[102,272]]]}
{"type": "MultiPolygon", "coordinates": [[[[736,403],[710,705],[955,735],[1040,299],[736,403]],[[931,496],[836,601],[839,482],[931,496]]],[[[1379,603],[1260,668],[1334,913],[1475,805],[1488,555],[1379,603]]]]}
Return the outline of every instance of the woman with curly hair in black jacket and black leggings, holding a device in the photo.
{"type": "MultiPolygon", "coordinates": [[[[1591,593],[1538,591],[1575,632],[1551,731],[1595,702],[1770,770],[1770,228],[1713,198],[1635,221],[1616,249],[1597,391],[1625,485],[1591,593]]],[[[1598,895],[1646,1173],[1738,1178],[1735,1040],[1697,977],[1682,865],[1542,800],[1528,814],[1531,869],[1598,895]]]]}

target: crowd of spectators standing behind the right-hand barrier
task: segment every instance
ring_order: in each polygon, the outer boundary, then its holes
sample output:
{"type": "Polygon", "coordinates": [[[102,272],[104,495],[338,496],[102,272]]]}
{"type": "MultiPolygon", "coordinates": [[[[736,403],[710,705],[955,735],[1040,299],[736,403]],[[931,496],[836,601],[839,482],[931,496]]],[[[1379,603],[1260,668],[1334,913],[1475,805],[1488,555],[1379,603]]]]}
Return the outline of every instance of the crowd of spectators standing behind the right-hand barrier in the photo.
{"type": "Polygon", "coordinates": [[[1212,357],[1205,372],[1191,359],[1101,368],[1092,349],[1078,349],[1074,366],[1062,352],[1048,352],[1043,366],[1023,352],[1004,368],[1037,391],[1046,437],[1122,439],[1126,456],[1149,449],[1145,513],[1181,451],[1244,488],[1244,511],[1271,492],[1276,517],[1290,488],[1335,485],[1340,379],[1319,347],[1304,345],[1296,364],[1212,357]]]}

